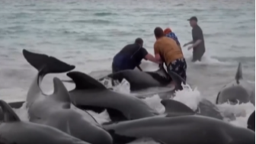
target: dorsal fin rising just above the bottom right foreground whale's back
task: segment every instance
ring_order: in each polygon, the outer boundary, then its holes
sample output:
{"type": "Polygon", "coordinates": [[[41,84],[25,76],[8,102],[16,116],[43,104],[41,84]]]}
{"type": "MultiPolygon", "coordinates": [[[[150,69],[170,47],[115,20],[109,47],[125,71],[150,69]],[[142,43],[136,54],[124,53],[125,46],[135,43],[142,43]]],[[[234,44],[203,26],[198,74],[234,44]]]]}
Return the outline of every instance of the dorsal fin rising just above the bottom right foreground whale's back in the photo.
{"type": "Polygon", "coordinates": [[[168,114],[168,117],[195,114],[194,110],[179,101],[162,100],[161,104],[165,106],[165,113],[168,114]]]}

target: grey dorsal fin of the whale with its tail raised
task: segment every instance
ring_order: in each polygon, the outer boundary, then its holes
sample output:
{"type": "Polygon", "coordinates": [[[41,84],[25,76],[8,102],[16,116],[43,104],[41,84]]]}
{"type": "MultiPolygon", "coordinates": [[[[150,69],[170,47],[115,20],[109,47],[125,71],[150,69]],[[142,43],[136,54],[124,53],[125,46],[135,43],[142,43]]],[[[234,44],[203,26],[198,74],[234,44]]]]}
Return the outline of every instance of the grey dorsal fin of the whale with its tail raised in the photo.
{"type": "Polygon", "coordinates": [[[65,102],[71,104],[71,100],[69,97],[69,91],[66,89],[65,85],[61,82],[59,78],[53,78],[53,87],[54,87],[54,92],[51,97],[53,97],[57,101],[65,102]]]}

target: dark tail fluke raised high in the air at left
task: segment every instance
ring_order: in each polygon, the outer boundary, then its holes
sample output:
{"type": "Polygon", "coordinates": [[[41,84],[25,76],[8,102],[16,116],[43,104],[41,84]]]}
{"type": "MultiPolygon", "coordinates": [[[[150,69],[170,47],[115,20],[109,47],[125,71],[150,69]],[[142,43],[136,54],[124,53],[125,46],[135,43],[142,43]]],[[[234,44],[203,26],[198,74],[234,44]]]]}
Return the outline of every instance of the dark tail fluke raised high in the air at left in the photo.
{"type": "Polygon", "coordinates": [[[47,73],[69,72],[72,69],[75,69],[75,66],[69,65],[66,62],[62,62],[53,56],[47,56],[40,53],[32,53],[28,50],[23,50],[22,53],[27,62],[30,63],[31,66],[34,66],[38,72],[43,71],[44,75],[47,73]]]}

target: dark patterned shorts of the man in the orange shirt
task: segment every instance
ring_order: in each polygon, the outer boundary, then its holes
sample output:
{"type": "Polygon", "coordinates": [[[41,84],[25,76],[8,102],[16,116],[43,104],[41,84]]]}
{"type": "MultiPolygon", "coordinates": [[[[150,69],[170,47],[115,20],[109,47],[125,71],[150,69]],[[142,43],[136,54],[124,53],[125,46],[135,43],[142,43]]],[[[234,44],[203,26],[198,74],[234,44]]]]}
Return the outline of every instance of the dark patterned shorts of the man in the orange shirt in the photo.
{"type": "Polygon", "coordinates": [[[181,78],[184,78],[186,81],[187,79],[187,62],[185,59],[176,59],[173,62],[171,62],[168,66],[168,72],[175,72],[178,75],[181,76],[181,78]]]}

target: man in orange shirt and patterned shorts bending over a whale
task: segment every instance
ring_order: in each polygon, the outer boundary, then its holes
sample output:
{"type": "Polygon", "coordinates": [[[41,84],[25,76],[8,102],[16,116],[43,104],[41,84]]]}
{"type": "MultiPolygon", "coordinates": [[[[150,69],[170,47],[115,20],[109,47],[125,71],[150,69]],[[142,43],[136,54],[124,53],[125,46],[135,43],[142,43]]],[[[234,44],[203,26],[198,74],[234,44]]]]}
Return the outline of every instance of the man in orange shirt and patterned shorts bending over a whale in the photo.
{"type": "Polygon", "coordinates": [[[172,71],[184,78],[186,81],[187,63],[181,48],[175,40],[165,37],[161,27],[155,27],[155,59],[165,62],[168,72],[172,71]]]}

